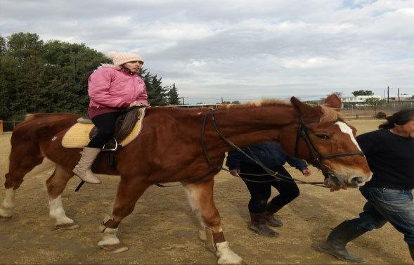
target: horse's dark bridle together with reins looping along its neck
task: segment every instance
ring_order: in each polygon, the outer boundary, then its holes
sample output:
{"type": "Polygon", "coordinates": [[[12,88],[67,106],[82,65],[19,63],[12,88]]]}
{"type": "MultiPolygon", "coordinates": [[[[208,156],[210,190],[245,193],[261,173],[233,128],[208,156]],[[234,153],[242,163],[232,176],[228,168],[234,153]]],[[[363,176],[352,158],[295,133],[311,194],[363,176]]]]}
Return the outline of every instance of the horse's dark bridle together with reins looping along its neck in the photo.
{"type": "MultiPolygon", "coordinates": [[[[219,136],[224,141],[226,141],[226,143],[228,143],[229,146],[231,146],[235,150],[238,150],[240,153],[243,153],[245,156],[247,156],[253,162],[259,164],[259,166],[261,166],[271,176],[276,176],[276,175],[281,176],[277,172],[273,172],[271,169],[265,167],[264,164],[262,164],[257,158],[251,157],[250,155],[245,153],[243,150],[241,150],[238,146],[235,146],[235,144],[232,143],[226,136],[221,134],[221,131],[219,130],[219,127],[216,124],[216,119],[214,117],[214,110],[215,109],[212,108],[212,109],[209,109],[209,111],[207,111],[205,113],[205,116],[204,116],[204,119],[203,119],[203,122],[202,122],[202,129],[201,129],[201,146],[202,146],[202,150],[203,150],[203,153],[205,155],[205,158],[207,160],[207,164],[209,165],[210,171],[223,169],[223,167],[221,165],[214,166],[212,164],[212,160],[209,157],[208,152],[207,152],[207,148],[205,146],[205,126],[206,126],[206,123],[207,123],[207,117],[211,113],[212,124],[213,124],[214,130],[216,131],[217,134],[219,134],[219,136]]],[[[299,119],[298,119],[299,127],[297,129],[297,136],[296,136],[296,142],[295,142],[295,157],[297,157],[298,152],[299,152],[300,138],[304,138],[306,146],[309,148],[309,151],[311,153],[311,160],[312,160],[311,164],[314,167],[317,167],[318,169],[321,170],[322,174],[325,176],[325,179],[328,178],[328,177],[331,177],[332,179],[336,179],[335,173],[332,171],[332,169],[330,167],[328,167],[328,165],[323,164],[322,160],[327,160],[327,159],[336,158],[336,157],[345,157],[345,156],[350,156],[350,155],[363,155],[363,152],[362,151],[356,151],[356,152],[344,152],[344,153],[334,153],[334,154],[330,154],[330,155],[322,155],[321,153],[318,152],[316,147],[313,145],[311,139],[309,138],[308,128],[305,125],[305,124],[318,123],[318,122],[319,121],[317,121],[317,120],[306,121],[305,122],[302,119],[302,117],[299,116],[299,119]]]]}

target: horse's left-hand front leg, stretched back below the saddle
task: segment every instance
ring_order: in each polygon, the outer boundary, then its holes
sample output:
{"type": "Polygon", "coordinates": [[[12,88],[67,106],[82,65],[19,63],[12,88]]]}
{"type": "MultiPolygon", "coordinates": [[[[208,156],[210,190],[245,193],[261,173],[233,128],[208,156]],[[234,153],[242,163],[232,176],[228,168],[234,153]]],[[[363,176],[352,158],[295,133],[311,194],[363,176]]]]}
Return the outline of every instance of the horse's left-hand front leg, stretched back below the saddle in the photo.
{"type": "Polygon", "coordinates": [[[150,185],[150,183],[142,179],[122,177],[113,205],[112,216],[104,219],[99,226],[99,231],[103,235],[101,241],[98,242],[98,246],[103,250],[112,253],[128,250],[128,247],[117,238],[118,226],[122,219],[131,214],[136,201],[150,185]]]}

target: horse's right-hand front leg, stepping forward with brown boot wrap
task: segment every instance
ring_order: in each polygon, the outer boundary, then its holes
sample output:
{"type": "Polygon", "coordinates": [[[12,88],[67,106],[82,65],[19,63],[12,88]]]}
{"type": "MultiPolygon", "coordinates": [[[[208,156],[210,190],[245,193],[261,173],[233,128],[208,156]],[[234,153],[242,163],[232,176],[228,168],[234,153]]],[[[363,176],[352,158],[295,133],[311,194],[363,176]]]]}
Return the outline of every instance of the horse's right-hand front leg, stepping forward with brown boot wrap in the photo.
{"type": "Polygon", "coordinates": [[[219,211],[214,205],[214,178],[211,177],[207,181],[183,184],[183,186],[191,208],[199,217],[201,225],[205,228],[207,248],[216,254],[218,258],[217,263],[241,264],[242,259],[230,249],[224,238],[219,211]]]}

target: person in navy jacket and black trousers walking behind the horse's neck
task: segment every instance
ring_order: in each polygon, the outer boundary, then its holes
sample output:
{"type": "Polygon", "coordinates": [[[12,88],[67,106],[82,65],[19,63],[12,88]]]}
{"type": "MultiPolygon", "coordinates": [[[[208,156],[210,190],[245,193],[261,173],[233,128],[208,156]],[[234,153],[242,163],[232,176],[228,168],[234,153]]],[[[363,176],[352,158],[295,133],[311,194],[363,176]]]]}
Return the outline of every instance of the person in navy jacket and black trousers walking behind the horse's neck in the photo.
{"type": "Polygon", "coordinates": [[[273,214],[299,196],[299,188],[297,188],[295,181],[293,181],[292,176],[283,167],[283,164],[285,162],[289,163],[292,167],[301,171],[304,176],[311,175],[311,172],[304,160],[289,157],[278,143],[257,143],[241,149],[247,155],[259,159],[265,167],[288,178],[276,180],[243,153],[237,150],[228,152],[226,165],[230,173],[233,176],[240,176],[250,191],[248,207],[251,222],[248,227],[259,235],[276,236],[278,233],[269,228],[269,226],[278,227],[282,226],[283,223],[276,219],[273,214]],[[278,190],[279,195],[268,202],[272,186],[278,190]]]}

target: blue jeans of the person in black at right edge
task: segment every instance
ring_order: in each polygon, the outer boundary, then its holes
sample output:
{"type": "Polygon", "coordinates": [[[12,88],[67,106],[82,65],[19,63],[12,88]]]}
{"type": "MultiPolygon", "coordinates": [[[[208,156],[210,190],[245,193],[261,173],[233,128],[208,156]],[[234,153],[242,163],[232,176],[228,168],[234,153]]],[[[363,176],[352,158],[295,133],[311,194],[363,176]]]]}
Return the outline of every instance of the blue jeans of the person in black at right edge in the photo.
{"type": "Polygon", "coordinates": [[[368,202],[359,217],[349,220],[349,224],[359,230],[371,231],[389,221],[404,234],[406,243],[414,244],[414,203],[411,190],[361,187],[360,191],[368,202]]]}

